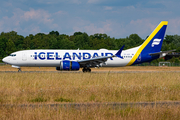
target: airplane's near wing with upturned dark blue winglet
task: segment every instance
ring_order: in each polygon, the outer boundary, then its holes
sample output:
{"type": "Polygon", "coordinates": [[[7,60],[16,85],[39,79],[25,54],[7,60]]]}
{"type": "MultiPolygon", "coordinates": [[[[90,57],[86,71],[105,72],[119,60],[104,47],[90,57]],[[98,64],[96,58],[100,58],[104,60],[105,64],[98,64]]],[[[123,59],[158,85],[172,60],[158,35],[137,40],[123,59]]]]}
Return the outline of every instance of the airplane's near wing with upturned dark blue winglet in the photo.
{"type": "Polygon", "coordinates": [[[77,62],[80,64],[81,67],[99,67],[101,64],[105,64],[108,58],[119,57],[123,59],[123,57],[121,57],[121,52],[123,48],[124,45],[122,46],[121,49],[119,49],[119,51],[115,55],[84,59],[84,60],[79,60],[77,62]]]}

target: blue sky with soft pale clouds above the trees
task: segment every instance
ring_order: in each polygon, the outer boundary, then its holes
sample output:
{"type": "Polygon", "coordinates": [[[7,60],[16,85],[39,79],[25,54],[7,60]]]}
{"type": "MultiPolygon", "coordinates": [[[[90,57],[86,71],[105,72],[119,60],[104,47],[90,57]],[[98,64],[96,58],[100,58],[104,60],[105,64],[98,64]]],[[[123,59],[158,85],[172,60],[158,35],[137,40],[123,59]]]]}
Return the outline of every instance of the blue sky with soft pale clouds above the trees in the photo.
{"type": "Polygon", "coordinates": [[[2,0],[0,33],[19,35],[58,31],[107,34],[145,39],[161,21],[169,21],[166,34],[180,34],[180,0],[2,0]]]}

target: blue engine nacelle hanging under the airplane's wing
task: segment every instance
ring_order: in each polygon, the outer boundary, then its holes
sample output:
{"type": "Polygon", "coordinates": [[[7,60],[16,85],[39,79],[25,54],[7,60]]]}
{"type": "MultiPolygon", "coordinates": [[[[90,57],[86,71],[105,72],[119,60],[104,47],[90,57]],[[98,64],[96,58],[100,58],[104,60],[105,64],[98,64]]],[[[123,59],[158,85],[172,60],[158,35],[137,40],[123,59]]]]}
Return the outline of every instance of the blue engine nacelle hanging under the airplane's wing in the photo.
{"type": "Polygon", "coordinates": [[[69,70],[69,71],[75,71],[79,70],[80,65],[78,62],[75,61],[61,61],[60,67],[56,67],[56,70],[69,70]]]}

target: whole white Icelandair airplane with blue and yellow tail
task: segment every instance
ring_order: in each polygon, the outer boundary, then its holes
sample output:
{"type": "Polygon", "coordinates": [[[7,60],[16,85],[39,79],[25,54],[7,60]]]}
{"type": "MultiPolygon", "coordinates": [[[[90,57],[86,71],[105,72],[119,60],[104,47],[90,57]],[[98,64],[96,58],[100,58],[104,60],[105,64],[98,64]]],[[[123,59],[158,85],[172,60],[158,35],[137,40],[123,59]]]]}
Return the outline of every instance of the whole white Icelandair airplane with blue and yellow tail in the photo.
{"type": "Polygon", "coordinates": [[[161,51],[168,21],[162,21],[144,43],[123,50],[22,50],[3,58],[3,62],[17,68],[56,67],[58,71],[91,72],[93,67],[123,67],[164,57],[170,51],[161,51]]]}

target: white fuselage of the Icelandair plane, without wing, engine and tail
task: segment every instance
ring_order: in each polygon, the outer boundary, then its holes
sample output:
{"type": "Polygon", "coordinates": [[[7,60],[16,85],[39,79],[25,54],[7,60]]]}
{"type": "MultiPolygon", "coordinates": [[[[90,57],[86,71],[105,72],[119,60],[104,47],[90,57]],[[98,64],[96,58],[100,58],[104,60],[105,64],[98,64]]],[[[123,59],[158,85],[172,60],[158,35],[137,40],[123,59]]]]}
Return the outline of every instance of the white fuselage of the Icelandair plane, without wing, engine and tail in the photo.
{"type": "MultiPolygon", "coordinates": [[[[120,67],[126,66],[133,58],[139,47],[129,50],[123,50],[121,56],[108,58],[102,67],[120,67]]],[[[27,67],[59,67],[60,62],[64,60],[79,61],[84,59],[91,59],[100,56],[114,55],[117,50],[23,50],[12,53],[5,57],[3,61],[13,66],[27,66],[27,67]]]]}

